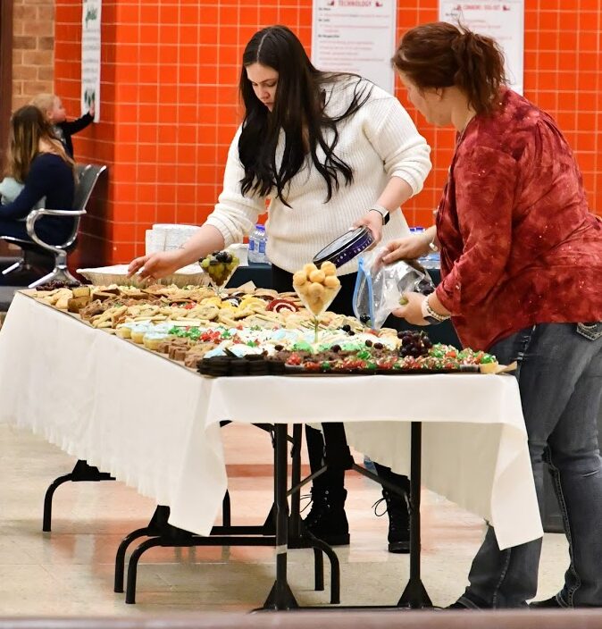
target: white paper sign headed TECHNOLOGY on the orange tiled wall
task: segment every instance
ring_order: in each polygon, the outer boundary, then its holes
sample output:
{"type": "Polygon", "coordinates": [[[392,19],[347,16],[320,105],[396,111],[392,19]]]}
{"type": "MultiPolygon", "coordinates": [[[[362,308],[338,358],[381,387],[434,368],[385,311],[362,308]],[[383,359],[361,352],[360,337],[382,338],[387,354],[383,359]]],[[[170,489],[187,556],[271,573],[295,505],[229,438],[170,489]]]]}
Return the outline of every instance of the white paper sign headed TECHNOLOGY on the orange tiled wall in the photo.
{"type": "Polygon", "coordinates": [[[372,80],[391,94],[397,0],[314,0],[312,63],[372,80]]]}

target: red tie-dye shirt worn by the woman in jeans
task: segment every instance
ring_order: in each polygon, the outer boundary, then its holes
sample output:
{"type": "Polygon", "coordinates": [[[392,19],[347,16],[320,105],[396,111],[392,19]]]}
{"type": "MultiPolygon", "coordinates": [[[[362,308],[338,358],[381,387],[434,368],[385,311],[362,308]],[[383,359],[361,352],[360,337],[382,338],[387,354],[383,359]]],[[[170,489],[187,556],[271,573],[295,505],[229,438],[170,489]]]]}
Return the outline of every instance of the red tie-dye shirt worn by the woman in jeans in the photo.
{"type": "Polygon", "coordinates": [[[602,320],[602,222],[556,123],[509,89],[458,138],[437,214],[441,284],[464,346],[602,320]]]}

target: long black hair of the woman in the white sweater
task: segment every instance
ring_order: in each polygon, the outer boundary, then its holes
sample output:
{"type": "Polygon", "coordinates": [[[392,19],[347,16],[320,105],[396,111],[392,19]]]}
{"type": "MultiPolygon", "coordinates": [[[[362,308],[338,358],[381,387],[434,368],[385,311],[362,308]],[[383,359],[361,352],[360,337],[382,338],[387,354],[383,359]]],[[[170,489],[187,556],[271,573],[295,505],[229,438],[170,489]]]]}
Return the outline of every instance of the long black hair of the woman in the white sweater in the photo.
{"type": "Polygon", "coordinates": [[[334,152],[339,142],[337,123],[353,115],[370,96],[372,87],[360,77],[345,73],[322,72],[314,68],[297,36],[286,26],[270,26],[255,33],[247,44],[240,71],[240,95],[245,104],[245,119],[238,139],[238,154],[245,168],[240,180],[242,193],[267,196],[272,189],[285,205],[284,189],[304,165],[309,152],[314,166],[326,182],[326,201],[339,189],[339,173],[346,185],[353,180],[348,164],[334,152]],[[261,63],[277,71],[278,85],[272,112],[263,105],[247,79],[247,66],[261,63]],[[330,117],[324,113],[322,85],[327,82],[357,79],[354,95],[345,112],[330,117]],[[284,130],[284,152],[276,164],[276,147],[284,130]],[[332,140],[324,138],[332,132],[332,140]],[[323,163],[317,149],[326,155],[323,163]]]}

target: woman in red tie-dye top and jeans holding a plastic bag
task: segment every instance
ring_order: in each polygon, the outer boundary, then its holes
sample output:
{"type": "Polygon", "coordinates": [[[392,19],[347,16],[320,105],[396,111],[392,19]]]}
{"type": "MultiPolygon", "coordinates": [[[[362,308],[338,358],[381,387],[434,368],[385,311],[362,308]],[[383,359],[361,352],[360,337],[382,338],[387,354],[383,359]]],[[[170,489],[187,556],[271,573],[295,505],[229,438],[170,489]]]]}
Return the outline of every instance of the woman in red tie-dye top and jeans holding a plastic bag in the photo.
{"type": "MultiPolygon", "coordinates": [[[[571,549],[564,587],[543,607],[602,606],[602,222],[556,122],[505,86],[491,38],[416,27],[393,57],[408,97],[458,134],[437,225],[389,243],[385,262],[439,246],[442,281],[397,309],[410,323],[449,316],[466,346],[518,362],[531,465],[554,476],[571,549]]],[[[541,541],[500,550],[489,528],[453,608],[522,607],[537,591],[541,541]]]]}

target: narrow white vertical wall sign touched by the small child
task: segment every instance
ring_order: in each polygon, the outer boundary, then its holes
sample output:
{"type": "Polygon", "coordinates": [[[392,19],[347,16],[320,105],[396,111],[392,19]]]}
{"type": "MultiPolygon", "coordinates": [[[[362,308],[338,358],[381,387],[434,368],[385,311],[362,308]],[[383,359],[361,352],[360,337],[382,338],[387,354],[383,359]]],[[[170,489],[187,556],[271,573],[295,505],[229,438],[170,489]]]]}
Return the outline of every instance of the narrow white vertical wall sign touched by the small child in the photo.
{"type": "Polygon", "coordinates": [[[81,113],[94,103],[100,118],[100,13],[102,0],[83,0],[81,13],[81,113]]]}

